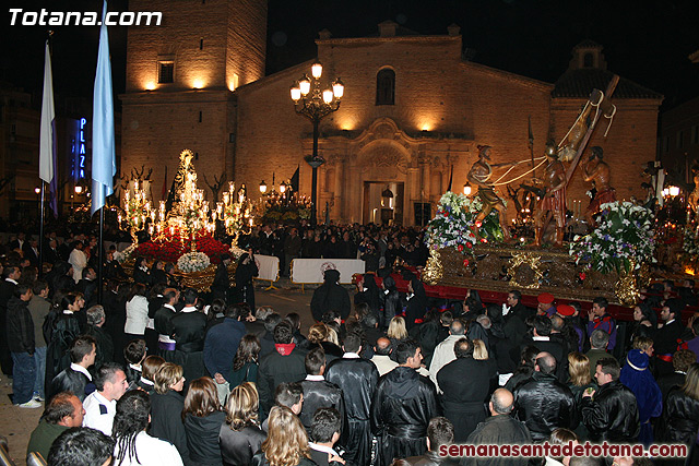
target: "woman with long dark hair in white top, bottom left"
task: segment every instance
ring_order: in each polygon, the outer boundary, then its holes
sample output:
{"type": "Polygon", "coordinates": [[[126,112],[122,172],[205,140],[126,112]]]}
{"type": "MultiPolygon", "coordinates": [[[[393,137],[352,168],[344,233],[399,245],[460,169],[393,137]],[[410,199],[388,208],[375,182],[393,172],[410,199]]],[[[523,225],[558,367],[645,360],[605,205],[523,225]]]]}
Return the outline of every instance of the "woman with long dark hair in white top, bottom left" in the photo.
{"type": "Polygon", "coordinates": [[[149,435],[151,398],[141,390],[125,393],[117,402],[111,437],[115,466],[180,466],[182,458],[171,443],[149,435]]]}

